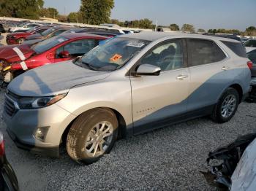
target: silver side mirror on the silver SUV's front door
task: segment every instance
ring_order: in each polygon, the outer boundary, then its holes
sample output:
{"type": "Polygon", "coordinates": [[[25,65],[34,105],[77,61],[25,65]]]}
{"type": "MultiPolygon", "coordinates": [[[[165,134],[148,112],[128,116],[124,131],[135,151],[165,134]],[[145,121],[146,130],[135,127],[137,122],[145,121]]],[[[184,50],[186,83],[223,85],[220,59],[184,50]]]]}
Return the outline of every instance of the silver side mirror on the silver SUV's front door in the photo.
{"type": "Polygon", "coordinates": [[[159,76],[161,69],[151,64],[140,65],[135,72],[137,76],[159,76]]]}

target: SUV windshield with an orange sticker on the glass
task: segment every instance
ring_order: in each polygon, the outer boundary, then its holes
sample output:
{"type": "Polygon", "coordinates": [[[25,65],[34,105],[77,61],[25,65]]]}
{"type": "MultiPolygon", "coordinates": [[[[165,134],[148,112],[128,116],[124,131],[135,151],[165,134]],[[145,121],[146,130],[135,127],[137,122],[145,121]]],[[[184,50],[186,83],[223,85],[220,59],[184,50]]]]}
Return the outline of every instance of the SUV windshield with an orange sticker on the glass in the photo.
{"type": "Polygon", "coordinates": [[[96,71],[114,71],[124,66],[147,44],[148,41],[140,39],[113,38],[86,53],[75,64],[96,71]]]}

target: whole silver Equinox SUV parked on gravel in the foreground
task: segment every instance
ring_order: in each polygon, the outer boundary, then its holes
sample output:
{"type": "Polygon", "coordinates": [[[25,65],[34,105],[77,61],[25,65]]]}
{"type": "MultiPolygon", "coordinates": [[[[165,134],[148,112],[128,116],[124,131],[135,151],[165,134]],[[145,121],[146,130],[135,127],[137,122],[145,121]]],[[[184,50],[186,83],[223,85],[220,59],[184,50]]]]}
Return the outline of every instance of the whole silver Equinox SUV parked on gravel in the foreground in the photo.
{"type": "Polygon", "coordinates": [[[241,42],[142,32],[27,71],[7,87],[4,120],[18,147],[94,163],[119,137],[200,116],[227,122],[249,91],[241,42]]]}

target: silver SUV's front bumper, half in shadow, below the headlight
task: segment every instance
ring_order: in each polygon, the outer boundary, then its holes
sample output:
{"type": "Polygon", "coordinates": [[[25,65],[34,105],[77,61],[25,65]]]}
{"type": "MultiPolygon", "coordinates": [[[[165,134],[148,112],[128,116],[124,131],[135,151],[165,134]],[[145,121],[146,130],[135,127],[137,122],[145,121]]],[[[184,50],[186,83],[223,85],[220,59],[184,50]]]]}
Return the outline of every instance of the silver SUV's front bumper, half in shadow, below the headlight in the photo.
{"type": "Polygon", "coordinates": [[[10,116],[6,110],[3,113],[7,132],[15,144],[22,149],[58,157],[61,136],[75,115],[70,114],[60,106],[53,104],[42,109],[22,109],[10,116]],[[45,139],[37,139],[38,128],[48,127],[45,139]]]}

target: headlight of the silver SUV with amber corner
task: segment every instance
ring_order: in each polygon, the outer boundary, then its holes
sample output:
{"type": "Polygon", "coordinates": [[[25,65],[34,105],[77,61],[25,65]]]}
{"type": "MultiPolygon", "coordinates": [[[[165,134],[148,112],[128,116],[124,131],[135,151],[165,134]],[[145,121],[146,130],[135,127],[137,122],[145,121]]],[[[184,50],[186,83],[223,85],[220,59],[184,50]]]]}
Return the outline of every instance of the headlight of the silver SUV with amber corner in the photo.
{"type": "Polygon", "coordinates": [[[37,109],[55,104],[64,98],[67,93],[42,98],[21,98],[18,102],[20,109],[37,109]]]}

